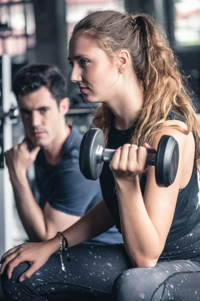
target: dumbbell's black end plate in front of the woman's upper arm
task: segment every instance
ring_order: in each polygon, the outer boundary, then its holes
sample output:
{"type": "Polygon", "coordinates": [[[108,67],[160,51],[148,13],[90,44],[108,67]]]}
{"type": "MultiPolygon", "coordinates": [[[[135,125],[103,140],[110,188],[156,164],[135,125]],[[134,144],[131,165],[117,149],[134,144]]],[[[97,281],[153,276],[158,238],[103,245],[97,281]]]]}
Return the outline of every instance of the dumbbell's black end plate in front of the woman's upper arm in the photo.
{"type": "Polygon", "coordinates": [[[174,182],[178,168],[178,143],[163,135],[158,143],[155,162],[155,180],[158,186],[168,187],[174,182]]]}

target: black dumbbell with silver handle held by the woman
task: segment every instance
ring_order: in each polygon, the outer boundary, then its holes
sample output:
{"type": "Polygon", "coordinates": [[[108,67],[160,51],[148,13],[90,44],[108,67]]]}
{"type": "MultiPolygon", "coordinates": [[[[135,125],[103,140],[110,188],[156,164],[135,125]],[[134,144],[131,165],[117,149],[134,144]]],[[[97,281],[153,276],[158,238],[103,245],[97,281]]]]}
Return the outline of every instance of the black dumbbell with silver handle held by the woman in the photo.
{"type": "MultiPolygon", "coordinates": [[[[104,162],[110,162],[116,149],[105,148],[104,135],[99,128],[90,128],[82,137],[79,152],[79,168],[88,180],[100,176],[104,162]]],[[[174,182],[178,168],[178,143],[169,135],[163,135],[157,151],[147,153],[146,167],[155,166],[155,180],[158,186],[168,187],[174,182]]]]}

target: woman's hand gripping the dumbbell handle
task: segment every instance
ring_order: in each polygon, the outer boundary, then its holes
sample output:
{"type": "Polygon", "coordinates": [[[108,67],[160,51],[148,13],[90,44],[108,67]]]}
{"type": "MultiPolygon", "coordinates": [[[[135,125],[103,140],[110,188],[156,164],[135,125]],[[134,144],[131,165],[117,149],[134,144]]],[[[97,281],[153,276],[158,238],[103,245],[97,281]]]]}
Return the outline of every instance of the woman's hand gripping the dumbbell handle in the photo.
{"type": "Polygon", "coordinates": [[[124,144],[116,149],[109,164],[115,179],[132,181],[137,175],[146,170],[146,156],[152,148],[144,143],[144,146],[124,144]]]}

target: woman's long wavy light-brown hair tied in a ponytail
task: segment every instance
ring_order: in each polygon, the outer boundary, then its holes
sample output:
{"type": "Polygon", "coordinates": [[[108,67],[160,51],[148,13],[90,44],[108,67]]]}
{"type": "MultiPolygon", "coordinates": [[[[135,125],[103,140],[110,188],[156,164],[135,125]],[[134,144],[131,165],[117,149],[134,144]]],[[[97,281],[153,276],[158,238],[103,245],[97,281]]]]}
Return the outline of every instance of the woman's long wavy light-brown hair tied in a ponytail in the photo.
{"type": "MultiPolygon", "coordinates": [[[[163,127],[170,110],[178,111],[187,124],[187,130],[173,125],[196,137],[196,162],[200,167],[200,121],[191,101],[192,93],[181,74],[177,59],[164,30],[147,14],[130,15],[127,12],[95,11],[80,20],[72,36],[79,30],[96,40],[109,56],[126,49],[132,59],[132,69],[143,88],[143,107],[138,116],[130,143],[151,144],[155,132],[163,127]]],[[[94,126],[101,128],[105,141],[112,119],[112,112],[105,105],[94,110],[94,126]]]]}

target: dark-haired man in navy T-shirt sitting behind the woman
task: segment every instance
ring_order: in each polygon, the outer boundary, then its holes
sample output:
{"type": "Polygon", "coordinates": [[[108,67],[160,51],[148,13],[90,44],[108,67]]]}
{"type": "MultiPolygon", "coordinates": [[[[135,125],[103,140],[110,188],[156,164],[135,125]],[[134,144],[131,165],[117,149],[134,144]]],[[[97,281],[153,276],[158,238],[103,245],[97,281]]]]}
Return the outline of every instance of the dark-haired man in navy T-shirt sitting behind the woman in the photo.
{"type": "MultiPolygon", "coordinates": [[[[48,64],[25,66],[14,76],[13,92],[26,136],[5,152],[5,163],[28,238],[43,241],[71,226],[100,201],[100,185],[80,173],[82,135],[65,122],[69,99],[60,71],[48,64]],[[33,163],[39,203],[26,177],[33,163]]],[[[93,242],[121,243],[122,238],[112,227],[93,242]]]]}

